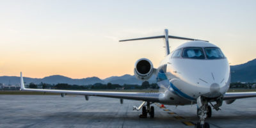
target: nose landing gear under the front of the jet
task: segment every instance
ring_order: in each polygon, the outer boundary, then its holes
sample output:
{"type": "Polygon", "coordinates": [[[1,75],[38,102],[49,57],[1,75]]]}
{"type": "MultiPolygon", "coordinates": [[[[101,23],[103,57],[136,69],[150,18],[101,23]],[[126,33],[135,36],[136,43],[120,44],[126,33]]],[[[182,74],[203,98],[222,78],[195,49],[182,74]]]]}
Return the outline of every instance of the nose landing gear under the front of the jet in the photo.
{"type": "MultiPolygon", "coordinates": [[[[198,106],[198,115],[200,118],[200,122],[195,124],[195,128],[209,128],[210,125],[207,122],[204,122],[205,118],[207,117],[207,109],[208,103],[204,97],[197,98],[197,106],[198,106]]],[[[211,108],[211,107],[210,107],[211,108]]]]}

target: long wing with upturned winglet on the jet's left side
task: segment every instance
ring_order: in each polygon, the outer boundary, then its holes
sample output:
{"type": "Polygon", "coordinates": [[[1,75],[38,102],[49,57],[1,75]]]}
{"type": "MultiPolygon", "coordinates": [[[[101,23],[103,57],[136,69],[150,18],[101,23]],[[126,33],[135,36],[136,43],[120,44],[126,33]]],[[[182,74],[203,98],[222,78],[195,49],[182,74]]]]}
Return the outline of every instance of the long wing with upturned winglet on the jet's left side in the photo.
{"type": "Polygon", "coordinates": [[[31,89],[25,88],[20,72],[20,90],[28,92],[50,92],[50,93],[64,93],[64,94],[75,94],[75,95],[90,95],[97,97],[111,97],[118,99],[132,99],[132,100],[143,100],[148,102],[159,102],[160,93],[137,93],[137,92],[94,92],[94,91],[75,91],[75,90],[44,90],[44,89],[31,89]]]}

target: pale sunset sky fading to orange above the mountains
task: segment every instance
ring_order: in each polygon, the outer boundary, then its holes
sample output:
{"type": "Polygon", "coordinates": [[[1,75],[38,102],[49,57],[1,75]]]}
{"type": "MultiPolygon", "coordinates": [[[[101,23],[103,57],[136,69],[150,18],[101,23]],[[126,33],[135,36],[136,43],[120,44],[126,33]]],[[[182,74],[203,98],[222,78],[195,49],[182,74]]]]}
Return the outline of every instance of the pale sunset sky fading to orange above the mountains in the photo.
{"type": "MultiPolygon", "coordinates": [[[[230,65],[256,58],[256,1],[0,1],[0,76],[72,78],[133,75],[159,66],[169,34],[209,40],[230,65]]],[[[186,40],[170,40],[171,50],[186,40]]]]}

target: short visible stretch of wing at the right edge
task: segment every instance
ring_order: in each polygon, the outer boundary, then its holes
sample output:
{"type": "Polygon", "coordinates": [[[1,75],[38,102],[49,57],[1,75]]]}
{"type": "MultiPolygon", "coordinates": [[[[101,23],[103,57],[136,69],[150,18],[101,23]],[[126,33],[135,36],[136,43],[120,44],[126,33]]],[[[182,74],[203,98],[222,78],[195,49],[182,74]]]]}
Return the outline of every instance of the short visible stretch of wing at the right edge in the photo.
{"type": "Polygon", "coordinates": [[[225,93],[223,100],[235,100],[249,97],[256,97],[256,92],[228,92],[225,93]]]}

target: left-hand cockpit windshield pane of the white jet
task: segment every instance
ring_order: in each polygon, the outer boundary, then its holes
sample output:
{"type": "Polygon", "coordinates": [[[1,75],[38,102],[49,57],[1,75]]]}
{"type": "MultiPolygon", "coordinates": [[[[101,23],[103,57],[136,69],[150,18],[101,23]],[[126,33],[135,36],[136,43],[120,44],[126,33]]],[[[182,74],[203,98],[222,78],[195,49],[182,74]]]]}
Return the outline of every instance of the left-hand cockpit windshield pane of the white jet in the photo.
{"type": "Polygon", "coordinates": [[[204,59],[203,49],[200,47],[188,47],[183,49],[182,53],[183,58],[191,58],[191,59],[204,59]]]}

